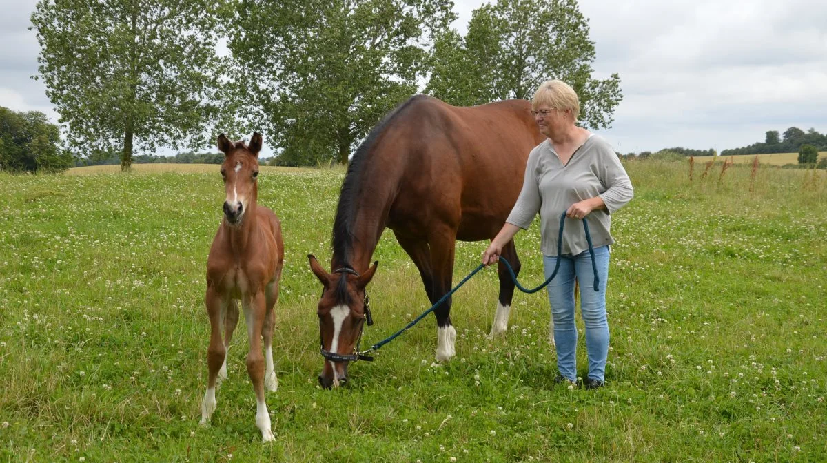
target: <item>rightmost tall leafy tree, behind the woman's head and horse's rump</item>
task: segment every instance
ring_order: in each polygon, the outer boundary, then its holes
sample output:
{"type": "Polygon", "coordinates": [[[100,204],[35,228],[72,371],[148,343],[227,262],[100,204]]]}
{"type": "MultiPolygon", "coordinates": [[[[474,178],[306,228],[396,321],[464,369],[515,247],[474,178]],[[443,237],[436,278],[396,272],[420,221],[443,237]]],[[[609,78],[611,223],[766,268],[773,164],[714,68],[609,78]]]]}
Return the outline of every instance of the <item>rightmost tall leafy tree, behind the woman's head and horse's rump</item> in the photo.
{"type": "Polygon", "coordinates": [[[610,126],[623,98],[620,78],[593,79],[595,44],[576,0],[499,0],[471,15],[463,39],[437,39],[425,89],[448,103],[470,106],[532,98],[547,79],[562,79],[581,100],[581,124],[610,126]]]}

